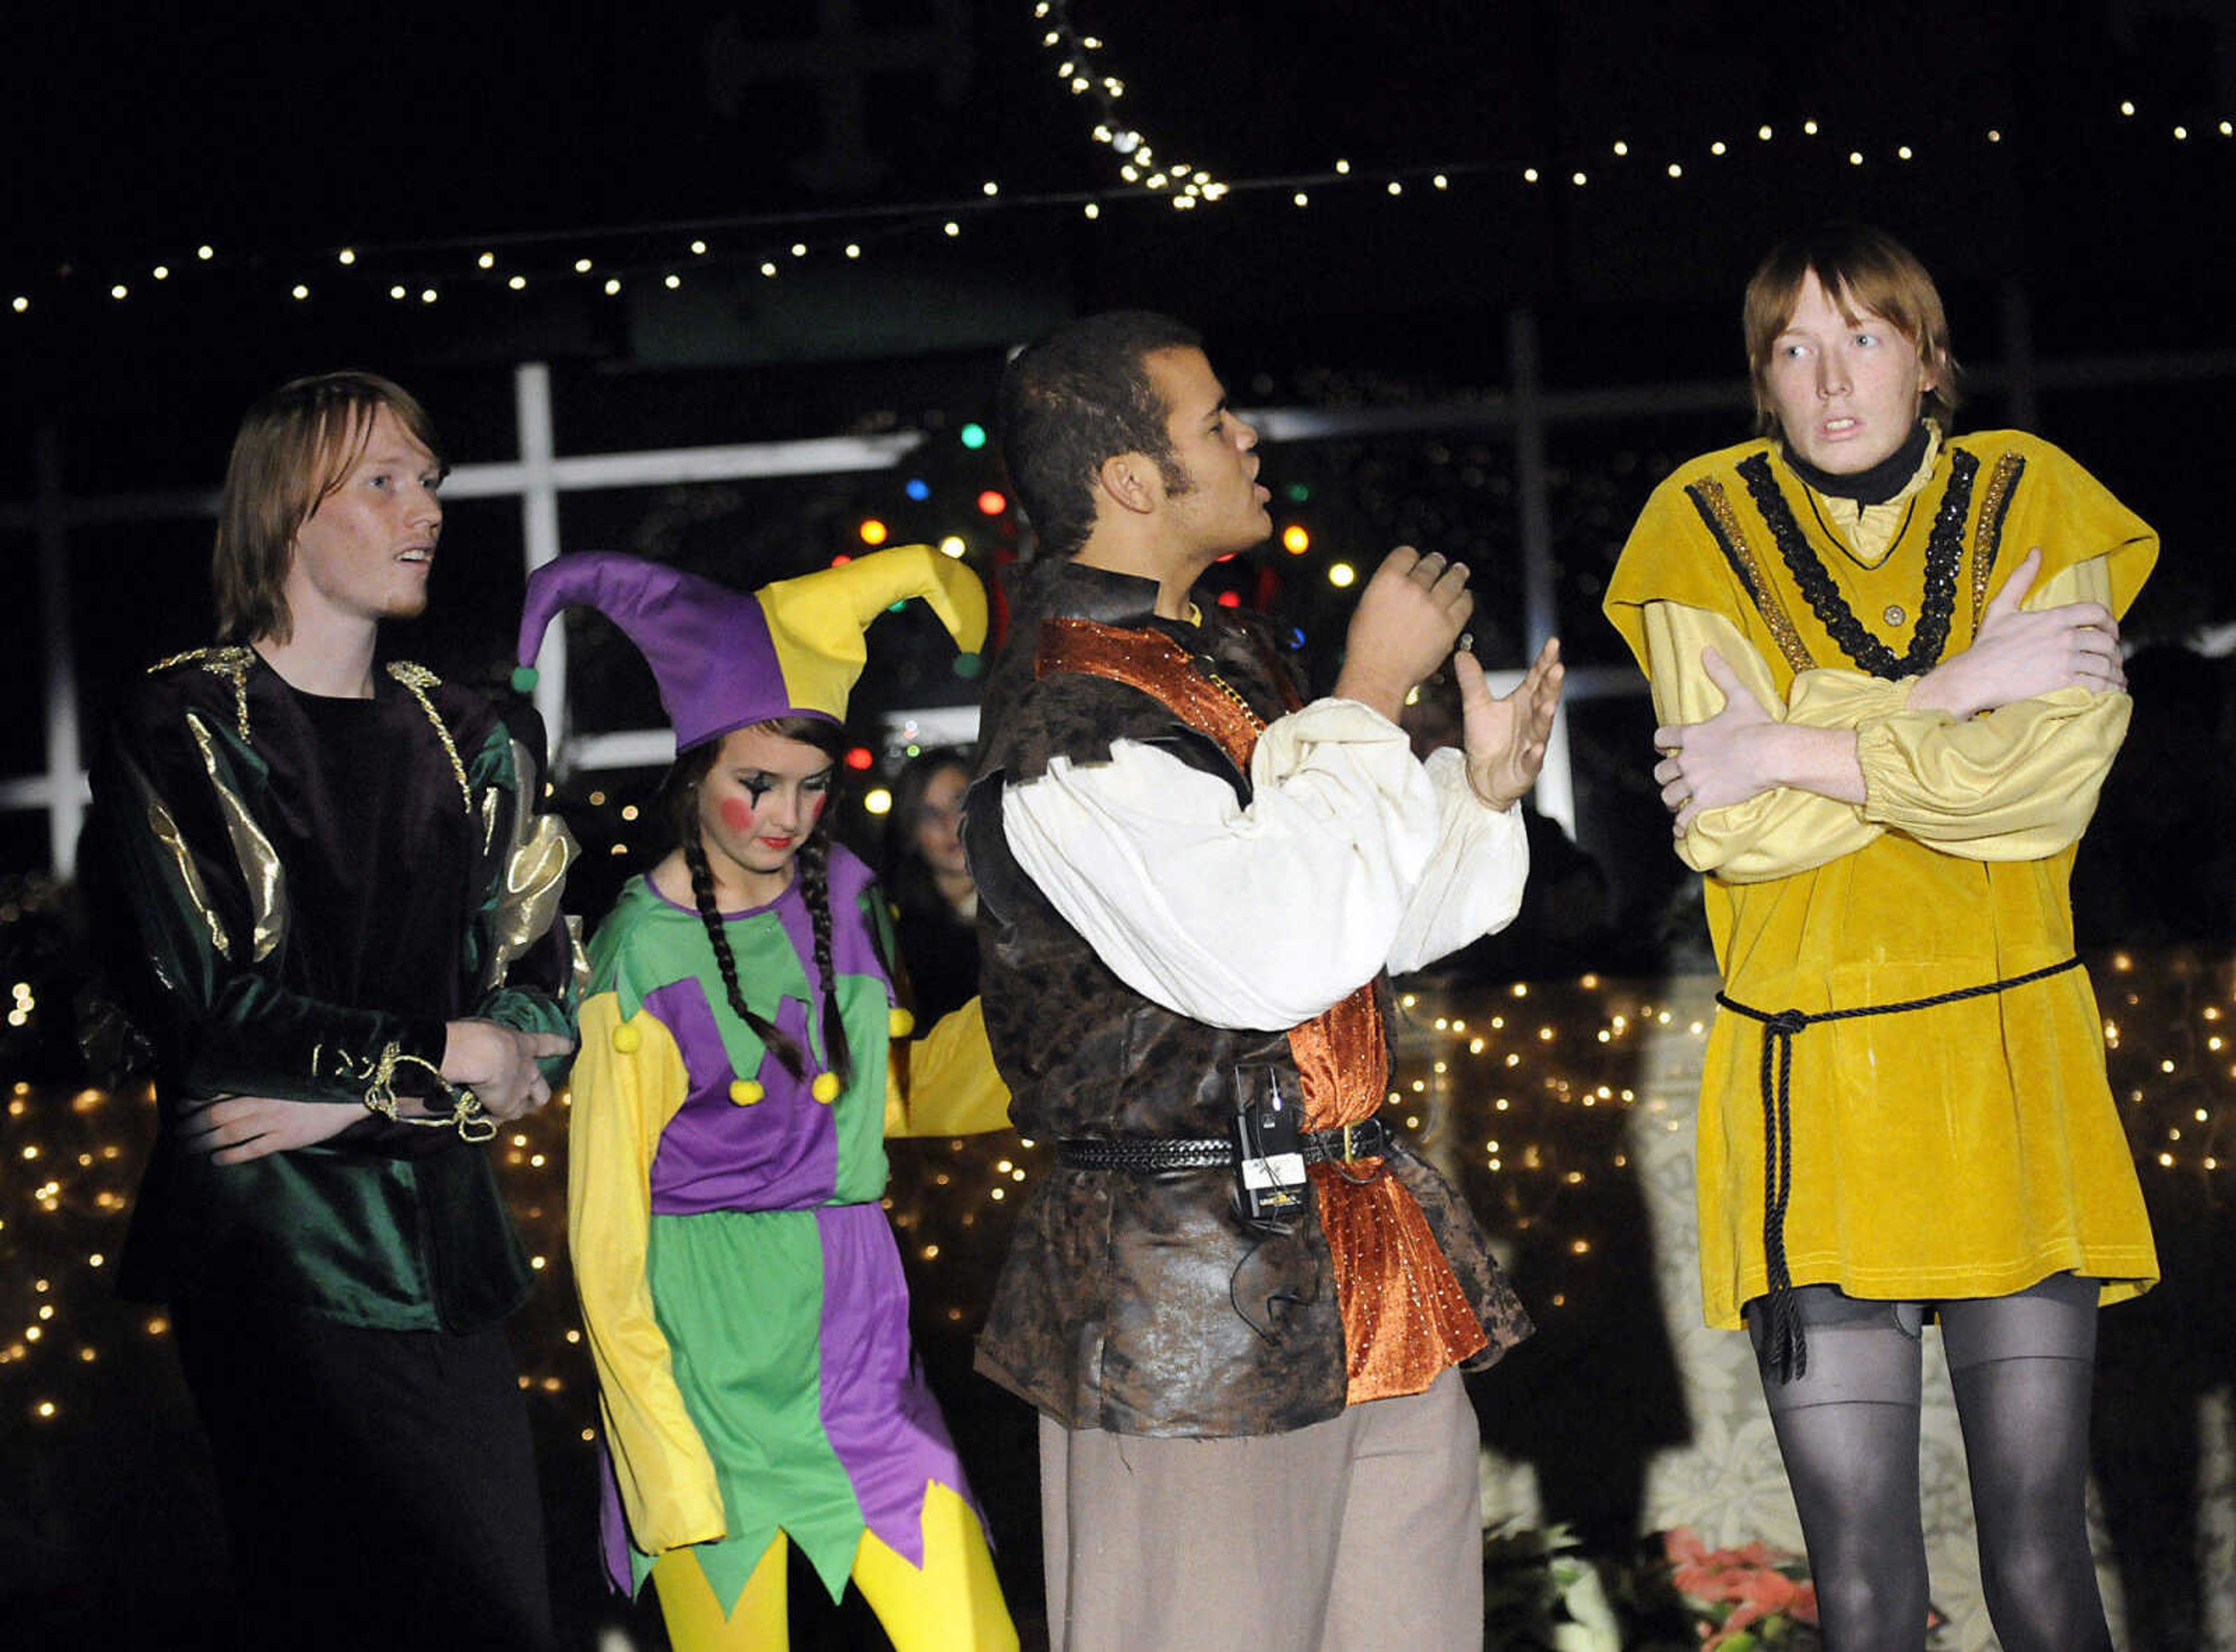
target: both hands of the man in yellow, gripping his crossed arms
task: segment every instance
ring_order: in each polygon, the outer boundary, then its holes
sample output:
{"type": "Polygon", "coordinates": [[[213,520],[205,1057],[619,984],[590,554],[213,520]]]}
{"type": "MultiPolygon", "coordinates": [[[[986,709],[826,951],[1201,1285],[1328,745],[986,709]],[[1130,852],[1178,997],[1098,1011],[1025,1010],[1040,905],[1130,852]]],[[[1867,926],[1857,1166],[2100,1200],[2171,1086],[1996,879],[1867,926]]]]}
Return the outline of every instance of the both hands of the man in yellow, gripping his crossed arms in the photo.
{"type": "MultiPolygon", "coordinates": [[[[1972,646],[1918,677],[1910,691],[1912,711],[1943,711],[1965,722],[2059,689],[2126,691],[2120,624],[2111,610],[2100,601],[2028,610],[2024,604],[2039,575],[2041,550],[2035,548],[1981,610],[1972,646]]],[[[1722,691],[1724,709],[1704,722],[1655,729],[1661,753],[1655,785],[1677,836],[1704,809],[1726,809],[1780,785],[1860,803],[1860,771],[1854,771],[1856,796],[1847,785],[1851,731],[1780,722],[1715,648],[1702,651],[1702,668],[1722,691]],[[1825,780],[1827,773],[1834,778],[1825,780]]]]}

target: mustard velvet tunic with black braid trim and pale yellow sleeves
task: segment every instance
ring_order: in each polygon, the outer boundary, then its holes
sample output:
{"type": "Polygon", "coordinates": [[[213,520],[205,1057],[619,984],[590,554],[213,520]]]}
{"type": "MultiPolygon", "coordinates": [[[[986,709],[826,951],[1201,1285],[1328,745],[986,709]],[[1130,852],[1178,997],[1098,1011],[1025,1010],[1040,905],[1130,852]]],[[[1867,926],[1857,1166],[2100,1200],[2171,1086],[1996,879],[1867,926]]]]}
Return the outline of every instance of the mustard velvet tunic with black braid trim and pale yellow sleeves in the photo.
{"type": "MultiPolygon", "coordinates": [[[[2028,608],[2095,599],[2124,613],[2158,537],[2017,431],[1936,445],[1896,505],[1842,521],[1773,443],[1731,447],[1661,483],[1608,588],[1664,722],[1722,709],[1702,666],[1715,646],[1775,718],[1856,731],[1863,805],[1773,789],[1704,811],[1679,843],[1706,874],[1724,990],[1762,1010],[1934,997],[2073,955],[2073,852],[2126,733],[2126,695],[2066,689],[1957,722],[1912,711],[1910,689],[1970,646],[2030,548],[2044,566],[2028,608]]],[[[1711,1326],[1737,1326],[1769,1290],[1762,1039],[1728,1010],[1708,1035],[1711,1326]]],[[[1930,1301],[2077,1272],[2117,1301],[2158,1279],[2082,970],[1809,1026],[1793,1042],[1791,1153],[1796,1285],[1930,1301]]]]}

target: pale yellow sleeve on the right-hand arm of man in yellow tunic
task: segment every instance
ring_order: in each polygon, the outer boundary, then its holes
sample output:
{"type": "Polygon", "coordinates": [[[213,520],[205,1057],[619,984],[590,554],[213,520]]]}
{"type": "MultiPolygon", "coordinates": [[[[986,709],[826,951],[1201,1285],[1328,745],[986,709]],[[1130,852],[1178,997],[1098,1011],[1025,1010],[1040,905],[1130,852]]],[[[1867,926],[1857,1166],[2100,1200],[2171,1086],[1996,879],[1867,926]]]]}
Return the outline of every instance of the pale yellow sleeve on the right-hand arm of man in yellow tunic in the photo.
{"type": "MultiPolygon", "coordinates": [[[[2059,570],[2028,608],[2115,599],[2106,557],[2059,570]]],[[[2062,689],[1970,722],[1903,711],[1856,735],[1863,816],[1968,861],[2039,861],[2079,841],[2126,738],[2124,693],[2062,689]]]]}

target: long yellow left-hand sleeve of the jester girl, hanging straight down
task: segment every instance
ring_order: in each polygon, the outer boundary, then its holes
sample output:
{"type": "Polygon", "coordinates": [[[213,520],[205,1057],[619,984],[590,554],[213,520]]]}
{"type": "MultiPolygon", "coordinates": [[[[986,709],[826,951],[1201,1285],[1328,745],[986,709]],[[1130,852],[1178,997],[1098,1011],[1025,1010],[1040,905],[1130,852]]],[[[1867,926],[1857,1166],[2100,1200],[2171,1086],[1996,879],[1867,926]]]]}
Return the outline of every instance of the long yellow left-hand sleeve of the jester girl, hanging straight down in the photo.
{"type": "Polygon", "coordinates": [[[644,1010],[624,1022],[613,993],[581,1006],[568,1115],[568,1247],[622,1509],[646,1554],[727,1531],[713,1458],[684,1411],[644,1276],[653,1153],[684,1089],[684,1060],[666,1026],[644,1010]]]}

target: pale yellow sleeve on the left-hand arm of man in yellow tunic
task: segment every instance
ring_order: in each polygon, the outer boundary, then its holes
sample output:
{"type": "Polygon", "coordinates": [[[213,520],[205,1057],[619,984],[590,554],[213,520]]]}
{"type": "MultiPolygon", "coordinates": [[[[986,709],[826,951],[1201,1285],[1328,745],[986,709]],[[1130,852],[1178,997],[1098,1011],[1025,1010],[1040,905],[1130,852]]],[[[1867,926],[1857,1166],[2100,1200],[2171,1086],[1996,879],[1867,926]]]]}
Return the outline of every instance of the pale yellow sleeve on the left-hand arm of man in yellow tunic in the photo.
{"type": "MultiPolygon", "coordinates": [[[[1699,664],[1704,648],[1722,653],[1780,722],[1856,729],[1898,709],[1910,693],[1907,684],[1880,682],[1860,671],[1804,671],[1793,680],[1791,697],[1782,697],[1762,655],[1724,615],[1648,601],[1639,619],[1655,718],[1664,724],[1706,722],[1724,709],[1724,691],[1699,664]]],[[[1762,883],[1854,854],[1880,829],[1851,803],[1773,787],[1726,809],[1702,809],[1677,841],[1677,856],[1695,872],[1713,872],[1731,883],[1762,883]]]]}

